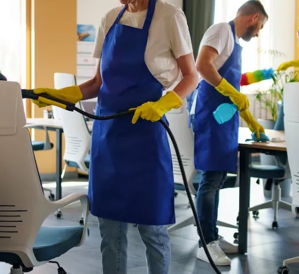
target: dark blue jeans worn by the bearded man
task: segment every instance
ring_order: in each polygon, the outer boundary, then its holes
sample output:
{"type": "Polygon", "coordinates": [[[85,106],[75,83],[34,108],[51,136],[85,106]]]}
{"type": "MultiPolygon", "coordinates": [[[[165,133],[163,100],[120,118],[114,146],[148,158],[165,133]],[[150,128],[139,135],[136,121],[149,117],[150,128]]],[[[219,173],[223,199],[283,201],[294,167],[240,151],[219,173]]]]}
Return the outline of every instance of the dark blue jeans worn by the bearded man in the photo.
{"type": "MultiPolygon", "coordinates": [[[[207,244],[216,241],[219,237],[217,228],[219,190],[227,177],[227,172],[205,171],[196,195],[197,216],[202,233],[207,244]]],[[[199,241],[199,247],[201,242],[199,241]]]]}

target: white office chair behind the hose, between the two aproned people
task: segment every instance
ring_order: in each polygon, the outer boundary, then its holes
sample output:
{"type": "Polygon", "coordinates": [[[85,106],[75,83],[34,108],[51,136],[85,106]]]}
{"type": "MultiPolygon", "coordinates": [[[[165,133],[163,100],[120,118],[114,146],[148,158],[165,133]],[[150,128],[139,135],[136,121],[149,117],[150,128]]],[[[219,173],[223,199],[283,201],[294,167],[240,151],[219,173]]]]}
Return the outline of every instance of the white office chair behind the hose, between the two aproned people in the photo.
{"type": "MultiPolygon", "coordinates": [[[[181,158],[183,160],[185,174],[187,177],[187,182],[190,188],[190,192],[191,194],[193,194],[193,197],[195,197],[197,191],[194,187],[193,181],[197,171],[195,170],[195,166],[194,166],[194,133],[193,130],[188,126],[189,112],[186,108],[186,101],[180,108],[172,109],[169,112],[167,112],[166,118],[169,122],[169,127],[179,147],[179,151],[181,154],[181,158]]],[[[171,149],[174,183],[184,185],[182,180],[182,175],[179,169],[177,157],[175,154],[175,150],[169,136],[168,136],[168,140],[171,149]]],[[[182,187],[181,189],[183,190],[184,187],[182,187]]],[[[184,216],[178,218],[174,225],[169,226],[168,231],[171,232],[189,226],[194,223],[195,220],[193,215],[184,216]]],[[[231,225],[221,221],[217,221],[217,225],[238,229],[238,227],[235,225],[231,225]]]]}

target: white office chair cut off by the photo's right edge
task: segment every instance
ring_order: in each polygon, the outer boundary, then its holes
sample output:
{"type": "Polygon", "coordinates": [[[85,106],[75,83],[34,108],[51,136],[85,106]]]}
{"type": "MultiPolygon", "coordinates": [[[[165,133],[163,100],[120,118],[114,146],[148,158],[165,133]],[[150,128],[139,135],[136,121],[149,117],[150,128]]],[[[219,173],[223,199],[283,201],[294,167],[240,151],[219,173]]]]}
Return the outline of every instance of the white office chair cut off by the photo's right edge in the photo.
{"type": "MultiPolygon", "coordinates": [[[[299,217],[299,83],[287,83],[284,87],[285,134],[289,165],[293,183],[292,212],[299,217]]],[[[279,273],[288,274],[287,266],[299,263],[299,257],[287,259],[279,273]]]]}

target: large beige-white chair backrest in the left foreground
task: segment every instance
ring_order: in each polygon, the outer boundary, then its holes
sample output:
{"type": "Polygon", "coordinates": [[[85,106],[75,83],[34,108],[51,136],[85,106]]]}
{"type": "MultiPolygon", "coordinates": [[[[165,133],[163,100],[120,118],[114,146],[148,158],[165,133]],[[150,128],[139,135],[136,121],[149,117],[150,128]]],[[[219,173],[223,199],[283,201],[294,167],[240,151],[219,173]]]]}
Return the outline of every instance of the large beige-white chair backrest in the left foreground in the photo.
{"type": "Polygon", "coordinates": [[[0,252],[13,252],[24,262],[35,258],[35,236],[53,206],[43,194],[24,127],[19,84],[0,81],[0,98],[0,252]]]}

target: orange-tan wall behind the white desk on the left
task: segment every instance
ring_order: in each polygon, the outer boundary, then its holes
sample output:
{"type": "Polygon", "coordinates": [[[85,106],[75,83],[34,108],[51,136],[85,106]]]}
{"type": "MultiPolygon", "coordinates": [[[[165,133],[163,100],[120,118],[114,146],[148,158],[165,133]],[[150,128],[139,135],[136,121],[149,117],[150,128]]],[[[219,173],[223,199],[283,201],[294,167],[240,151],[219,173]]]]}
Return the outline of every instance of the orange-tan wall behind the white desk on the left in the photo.
{"type": "MultiPolygon", "coordinates": [[[[77,0],[31,0],[31,88],[54,88],[54,73],[76,74],[77,0]]],[[[42,117],[44,108],[32,105],[31,116],[42,117]]],[[[44,131],[33,132],[44,140],[44,131]]],[[[36,152],[40,173],[56,170],[56,134],[50,132],[54,149],[36,152]]],[[[64,143],[64,141],[63,141],[64,143]]]]}

